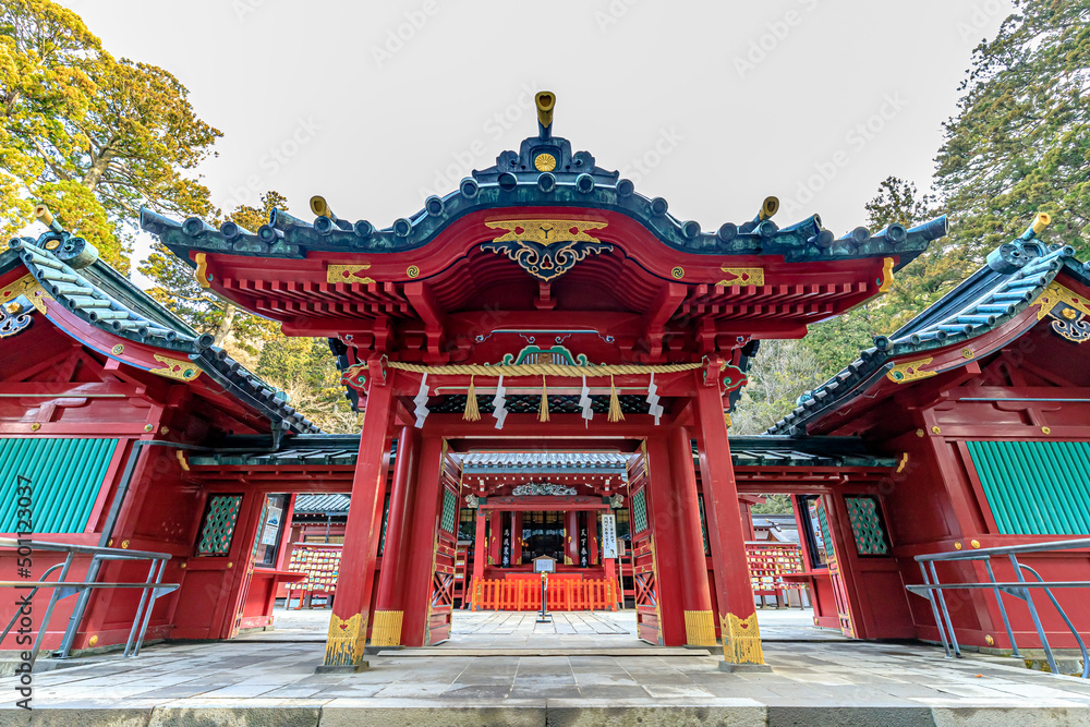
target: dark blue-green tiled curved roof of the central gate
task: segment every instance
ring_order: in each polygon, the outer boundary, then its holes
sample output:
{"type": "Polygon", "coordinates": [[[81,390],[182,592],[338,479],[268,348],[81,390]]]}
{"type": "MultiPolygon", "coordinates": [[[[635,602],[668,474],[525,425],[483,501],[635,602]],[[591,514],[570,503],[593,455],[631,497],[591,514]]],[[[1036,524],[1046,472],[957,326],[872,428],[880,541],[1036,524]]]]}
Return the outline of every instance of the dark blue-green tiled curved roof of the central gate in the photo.
{"type": "Polygon", "coordinates": [[[331,213],[311,223],[279,210],[256,232],[242,230],[233,222],[216,229],[195,217],[177,222],[149,209],[141,210],[141,227],[191,266],[190,251],[296,259],[310,252],[408,252],[427,245],[471,213],[511,207],[616,211],[633,218],[664,245],[680,252],[783,255],[788,263],[897,256],[900,268],[946,233],[946,218],[941,217],[911,230],[887,228],[873,235],[860,227],[834,240],[822,229],[816,215],[783,229],[771,219],[754,219],[741,225],[727,222],[706,232],[695,221],[681,221],[670,215],[662,197],[645,197],[635,192],[632,182],[618,178],[618,172],[596,167],[586,152],[571,154],[567,140],[531,137],[522,143],[519,153],[504,152],[494,167],[474,170],[457,191],[428,197],[423,209],[385,229],[376,229],[366,220],[340,220],[331,213]],[[535,159],[543,154],[554,157],[555,167],[549,171],[534,169],[535,159]]]}

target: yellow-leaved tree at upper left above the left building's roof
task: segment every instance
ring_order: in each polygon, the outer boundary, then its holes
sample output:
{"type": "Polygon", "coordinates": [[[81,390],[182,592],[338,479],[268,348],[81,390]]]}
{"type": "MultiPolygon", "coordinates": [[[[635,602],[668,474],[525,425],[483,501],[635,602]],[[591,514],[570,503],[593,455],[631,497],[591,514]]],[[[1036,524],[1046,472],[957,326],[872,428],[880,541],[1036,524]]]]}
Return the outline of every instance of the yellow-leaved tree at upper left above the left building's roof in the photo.
{"type": "Polygon", "coordinates": [[[102,258],[129,271],[142,205],[215,214],[183,172],[220,132],[197,118],[167,71],[116,60],[80,20],[49,0],[0,5],[0,234],[46,202],[102,258]]]}

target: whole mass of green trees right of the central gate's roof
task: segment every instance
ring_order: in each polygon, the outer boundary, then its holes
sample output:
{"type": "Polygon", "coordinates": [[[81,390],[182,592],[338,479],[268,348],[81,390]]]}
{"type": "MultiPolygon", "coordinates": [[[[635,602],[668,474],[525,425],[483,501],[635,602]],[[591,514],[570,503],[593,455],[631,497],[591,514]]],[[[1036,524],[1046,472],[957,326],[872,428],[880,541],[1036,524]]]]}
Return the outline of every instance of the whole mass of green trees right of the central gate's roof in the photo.
{"type": "MultiPolygon", "coordinates": [[[[898,270],[882,298],[811,327],[803,346],[819,380],[856,359],[873,336],[893,332],[953,289],[1039,210],[1053,218],[1046,242],[1090,257],[1090,0],[1015,0],[1015,9],[996,37],[973,51],[958,113],[944,124],[935,157],[937,195],[921,196],[915,184],[891,177],[867,205],[872,230],[948,211],[950,234],[898,270]]],[[[789,363],[755,365],[754,393],[742,398],[735,421],[767,421],[764,391],[790,369],[789,363]]],[[[800,377],[795,388],[811,386],[800,377]]],[[[782,416],[792,404],[790,387],[779,388],[774,401],[782,416]]]]}

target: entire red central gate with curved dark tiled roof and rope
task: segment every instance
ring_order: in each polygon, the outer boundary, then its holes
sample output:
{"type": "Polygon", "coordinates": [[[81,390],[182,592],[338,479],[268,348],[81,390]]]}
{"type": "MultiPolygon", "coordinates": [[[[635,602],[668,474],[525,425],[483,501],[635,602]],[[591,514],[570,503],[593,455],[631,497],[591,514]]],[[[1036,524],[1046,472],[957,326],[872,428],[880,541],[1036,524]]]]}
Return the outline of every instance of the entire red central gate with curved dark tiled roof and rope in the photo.
{"type": "Polygon", "coordinates": [[[451,518],[463,485],[481,512],[496,497],[459,471],[461,456],[526,443],[633,455],[623,496],[644,524],[633,532],[641,635],[722,634],[729,667],[760,666],[727,439],[748,361],[762,339],[802,337],[887,290],[945,218],[835,238],[818,215],[778,226],[768,197],[752,220],[708,232],[572,153],[553,135],[555,97],[536,104],[538,133],[519,152],[385,229],[339,218],[323,197],[313,223],[277,211],[255,231],[216,229],[143,210],[142,225],[205,288],[289,336],[329,338],[365,412],[326,668],[362,665],[368,634],[446,638],[451,518]]]}

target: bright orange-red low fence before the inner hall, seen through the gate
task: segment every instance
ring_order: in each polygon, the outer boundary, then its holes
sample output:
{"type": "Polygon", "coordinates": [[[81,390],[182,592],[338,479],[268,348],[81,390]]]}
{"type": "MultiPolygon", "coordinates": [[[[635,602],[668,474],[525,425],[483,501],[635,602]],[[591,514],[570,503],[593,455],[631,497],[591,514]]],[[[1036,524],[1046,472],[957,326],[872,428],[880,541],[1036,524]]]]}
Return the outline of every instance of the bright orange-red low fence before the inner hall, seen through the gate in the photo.
{"type": "MultiPolygon", "coordinates": [[[[613,579],[550,578],[548,610],[617,610],[613,579]]],[[[474,579],[473,610],[541,610],[542,584],[534,578],[474,579]]]]}

